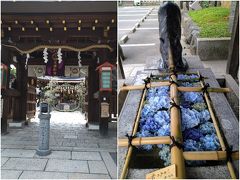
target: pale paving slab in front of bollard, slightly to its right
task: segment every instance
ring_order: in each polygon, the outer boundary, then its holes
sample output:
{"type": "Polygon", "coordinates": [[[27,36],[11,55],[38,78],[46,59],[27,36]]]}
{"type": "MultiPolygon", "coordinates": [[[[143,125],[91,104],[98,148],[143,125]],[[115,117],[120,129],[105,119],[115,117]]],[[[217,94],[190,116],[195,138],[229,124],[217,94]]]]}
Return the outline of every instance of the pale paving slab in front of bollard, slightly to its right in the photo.
{"type": "Polygon", "coordinates": [[[87,161],[49,159],[46,171],[89,173],[87,161]]]}

